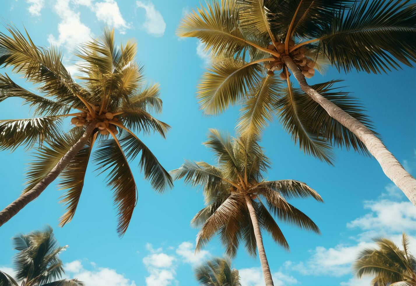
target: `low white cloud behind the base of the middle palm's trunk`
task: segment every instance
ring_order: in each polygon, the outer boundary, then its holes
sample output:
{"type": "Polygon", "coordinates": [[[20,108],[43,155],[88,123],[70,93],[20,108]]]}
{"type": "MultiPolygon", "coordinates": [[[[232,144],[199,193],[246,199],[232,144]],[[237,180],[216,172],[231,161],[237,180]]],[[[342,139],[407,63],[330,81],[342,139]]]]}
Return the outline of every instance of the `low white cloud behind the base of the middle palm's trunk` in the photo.
{"type": "MultiPolygon", "coordinates": [[[[263,272],[259,267],[243,268],[238,270],[241,286],[264,286],[263,272]]],[[[275,286],[295,285],[298,281],[293,276],[278,271],[272,273],[275,286]]]]}

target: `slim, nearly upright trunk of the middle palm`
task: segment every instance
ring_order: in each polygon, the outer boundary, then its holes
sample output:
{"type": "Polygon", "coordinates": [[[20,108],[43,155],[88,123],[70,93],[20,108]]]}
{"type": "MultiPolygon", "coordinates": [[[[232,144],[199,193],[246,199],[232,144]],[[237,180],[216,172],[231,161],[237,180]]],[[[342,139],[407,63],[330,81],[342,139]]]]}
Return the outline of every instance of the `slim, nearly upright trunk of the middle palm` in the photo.
{"type": "Polygon", "coordinates": [[[250,213],[251,223],[254,228],[254,236],[256,237],[257,250],[259,252],[260,264],[263,270],[263,277],[266,286],[273,286],[272,274],[270,273],[269,262],[267,261],[266,252],[264,251],[263,239],[261,237],[260,226],[257,220],[256,212],[251,204],[251,198],[245,196],[248,212],[250,213]]]}

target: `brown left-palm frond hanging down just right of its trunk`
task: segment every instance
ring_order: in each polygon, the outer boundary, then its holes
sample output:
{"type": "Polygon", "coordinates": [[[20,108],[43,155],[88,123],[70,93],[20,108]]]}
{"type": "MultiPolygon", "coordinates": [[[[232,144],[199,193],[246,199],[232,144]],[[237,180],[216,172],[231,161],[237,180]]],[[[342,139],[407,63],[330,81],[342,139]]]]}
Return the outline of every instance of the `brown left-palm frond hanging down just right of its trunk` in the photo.
{"type": "MultiPolygon", "coordinates": [[[[87,145],[82,148],[74,159],[69,162],[67,167],[59,174],[61,182],[59,182],[59,190],[65,190],[65,193],[60,197],[61,200],[59,203],[66,206],[66,212],[59,219],[59,226],[64,226],[67,222],[75,215],[75,210],[77,209],[79,198],[81,196],[82,188],[84,187],[85,172],[87,171],[87,166],[89,158],[92,151],[92,144],[94,142],[93,138],[87,143],[87,145]]],[[[50,153],[48,153],[49,155],[50,153]]],[[[48,156],[44,154],[42,156],[45,158],[48,156]]]]}

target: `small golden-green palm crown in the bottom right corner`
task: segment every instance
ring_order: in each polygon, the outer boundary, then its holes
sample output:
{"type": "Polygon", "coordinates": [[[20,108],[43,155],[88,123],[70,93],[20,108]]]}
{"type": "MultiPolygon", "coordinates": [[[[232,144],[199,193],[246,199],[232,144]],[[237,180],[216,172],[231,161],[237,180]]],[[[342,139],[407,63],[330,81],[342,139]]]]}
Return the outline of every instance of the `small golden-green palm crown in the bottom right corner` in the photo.
{"type": "Polygon", "coordinates": [[[415,286],[416,259],[409,253],[409,238],[403,233],[399,249],[386,238],[374,239],[377,248],[362,250],[353,264],[358,278],[375,276],[371,286],[415,286]]]}

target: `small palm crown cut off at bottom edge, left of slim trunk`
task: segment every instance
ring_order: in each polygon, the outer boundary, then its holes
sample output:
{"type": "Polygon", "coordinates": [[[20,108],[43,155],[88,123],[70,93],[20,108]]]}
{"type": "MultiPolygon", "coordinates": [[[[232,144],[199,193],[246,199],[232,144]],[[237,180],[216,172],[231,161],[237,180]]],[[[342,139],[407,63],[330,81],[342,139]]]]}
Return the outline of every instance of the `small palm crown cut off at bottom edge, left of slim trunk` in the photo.
{"type": "Polygon", "coordinates": [[[237,269],[231,268],[230,259],[213,258],[193,269],[196,281],[203,286],[241,286],[237,269]]]}

